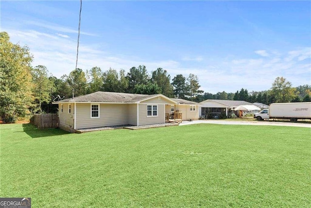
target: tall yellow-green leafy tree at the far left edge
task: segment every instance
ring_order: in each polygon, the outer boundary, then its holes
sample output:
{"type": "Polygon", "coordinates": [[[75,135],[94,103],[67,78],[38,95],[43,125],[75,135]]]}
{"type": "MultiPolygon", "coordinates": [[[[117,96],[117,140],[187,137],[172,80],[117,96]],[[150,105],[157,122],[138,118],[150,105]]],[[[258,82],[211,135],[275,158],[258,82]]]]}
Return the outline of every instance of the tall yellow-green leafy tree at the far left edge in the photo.
{"type": "Polygon", "coordinates": [[[8,33],[0,32],[0,116],[5,122],[15,122],[29,113],[32,60],[27,46],[13,44],[8,33]]]}

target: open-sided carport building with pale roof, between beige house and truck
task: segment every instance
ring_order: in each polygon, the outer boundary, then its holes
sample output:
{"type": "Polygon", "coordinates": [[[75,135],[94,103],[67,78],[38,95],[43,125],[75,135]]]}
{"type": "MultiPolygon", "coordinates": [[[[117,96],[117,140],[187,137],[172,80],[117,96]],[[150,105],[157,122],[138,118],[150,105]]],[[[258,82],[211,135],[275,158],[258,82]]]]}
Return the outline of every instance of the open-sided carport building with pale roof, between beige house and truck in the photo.
{"type": "Polygon", "coordinates": [[[224,113],[227,117],[230,117],[232,113],[239,115],[239,112],[233,111],[234,108],[240,105],[252,105],[252,103],[241,100],[213,100],[207,99],[200,102],[199,109],[200,117],[206,117],[208,113],[216,116],[224,113]]]}

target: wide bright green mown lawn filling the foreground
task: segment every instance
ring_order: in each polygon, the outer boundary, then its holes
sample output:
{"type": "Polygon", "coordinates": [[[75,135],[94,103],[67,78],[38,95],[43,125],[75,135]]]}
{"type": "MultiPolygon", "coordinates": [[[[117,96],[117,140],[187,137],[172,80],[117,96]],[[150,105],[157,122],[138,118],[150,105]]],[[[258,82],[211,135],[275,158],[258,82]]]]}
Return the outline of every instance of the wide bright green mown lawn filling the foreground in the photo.
{"type": "Polygon", "coordinates": [[[0,197],[34,208],[311,207],[310,128],[0,130],[0,197]]]}

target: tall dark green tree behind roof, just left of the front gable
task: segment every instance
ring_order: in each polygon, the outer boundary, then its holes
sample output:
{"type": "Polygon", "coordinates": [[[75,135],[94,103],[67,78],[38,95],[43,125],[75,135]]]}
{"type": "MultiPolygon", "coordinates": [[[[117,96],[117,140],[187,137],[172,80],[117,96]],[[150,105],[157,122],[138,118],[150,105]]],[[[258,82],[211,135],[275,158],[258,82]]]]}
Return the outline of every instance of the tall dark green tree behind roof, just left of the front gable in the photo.
{"type": "Polygon", "coordinates": [[[128,84],[128,92],[134,93],[135,85],[139,84],[147,84],[149,81],[149,76],[147,74],[146,66],[140,65],[138,68],[132,67],[130,71],[127,73],[127,79],[129,81],[128,84]]]}

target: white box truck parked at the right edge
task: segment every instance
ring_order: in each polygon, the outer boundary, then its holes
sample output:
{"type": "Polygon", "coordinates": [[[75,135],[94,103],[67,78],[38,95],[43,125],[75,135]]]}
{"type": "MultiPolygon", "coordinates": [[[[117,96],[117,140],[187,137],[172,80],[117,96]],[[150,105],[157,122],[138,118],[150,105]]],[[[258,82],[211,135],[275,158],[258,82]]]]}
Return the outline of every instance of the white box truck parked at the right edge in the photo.
{"type": "Polygon", "coordinates": [[[255,113],[254,118],[262,119],[311,119],[311,102],[303,103],[272,103],[269,109],[255,113]]]}

